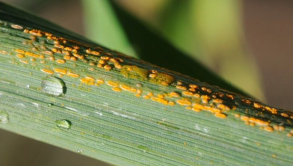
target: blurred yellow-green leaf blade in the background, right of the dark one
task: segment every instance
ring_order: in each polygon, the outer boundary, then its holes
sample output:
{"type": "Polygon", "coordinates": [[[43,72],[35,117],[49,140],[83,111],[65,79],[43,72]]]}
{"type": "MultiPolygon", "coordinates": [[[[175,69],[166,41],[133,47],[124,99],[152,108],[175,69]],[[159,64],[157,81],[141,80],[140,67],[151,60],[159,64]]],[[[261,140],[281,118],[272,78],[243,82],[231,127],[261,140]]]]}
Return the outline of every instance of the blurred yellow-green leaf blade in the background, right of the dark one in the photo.
{"type": "Polygon", "coordinates": [[[263,101],[258,66],[245,41],[241,2],[199,0],[194,1],[193,6],[198,40],[204,56],[210,57],[210,60],[204,59],[204,64],[263,101]]]}

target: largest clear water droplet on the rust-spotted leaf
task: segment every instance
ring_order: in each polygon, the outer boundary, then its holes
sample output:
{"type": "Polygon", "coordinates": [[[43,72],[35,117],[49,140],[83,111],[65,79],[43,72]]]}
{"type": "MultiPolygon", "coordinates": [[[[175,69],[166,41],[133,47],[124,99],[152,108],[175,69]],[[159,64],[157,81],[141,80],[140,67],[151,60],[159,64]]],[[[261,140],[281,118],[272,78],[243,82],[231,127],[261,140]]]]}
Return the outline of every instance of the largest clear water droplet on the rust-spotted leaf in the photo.
{"type": "Polygon", "coordinates": [[[58,97],[66,93],[65,82],[55,76],[48,75],[42,79],[41,91],[50,97],[58,97]]]}

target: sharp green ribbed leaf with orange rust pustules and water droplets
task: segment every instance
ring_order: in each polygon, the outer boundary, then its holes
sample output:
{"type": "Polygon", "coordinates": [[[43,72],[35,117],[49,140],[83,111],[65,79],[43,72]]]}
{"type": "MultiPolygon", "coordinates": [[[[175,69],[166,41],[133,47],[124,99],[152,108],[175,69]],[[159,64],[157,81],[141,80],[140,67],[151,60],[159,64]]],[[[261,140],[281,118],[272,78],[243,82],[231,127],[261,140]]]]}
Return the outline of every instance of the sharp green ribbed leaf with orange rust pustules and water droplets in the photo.
{"type": "Polygon", "coordinates": [[[291,111],[0,18],[2,129],[117,165],[293,163],[291,111]]]}

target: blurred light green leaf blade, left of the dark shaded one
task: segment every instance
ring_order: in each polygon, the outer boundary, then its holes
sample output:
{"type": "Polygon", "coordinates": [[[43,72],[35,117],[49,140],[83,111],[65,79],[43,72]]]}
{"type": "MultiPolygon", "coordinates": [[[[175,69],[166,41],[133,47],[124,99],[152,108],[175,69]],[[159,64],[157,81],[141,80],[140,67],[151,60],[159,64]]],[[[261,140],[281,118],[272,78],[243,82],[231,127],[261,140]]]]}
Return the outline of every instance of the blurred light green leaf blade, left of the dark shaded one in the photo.
{"type": "Polygon", "coordinates": [[[136,56],[108,1],[83,0],[86,36],[108,48],[136,56]]]}

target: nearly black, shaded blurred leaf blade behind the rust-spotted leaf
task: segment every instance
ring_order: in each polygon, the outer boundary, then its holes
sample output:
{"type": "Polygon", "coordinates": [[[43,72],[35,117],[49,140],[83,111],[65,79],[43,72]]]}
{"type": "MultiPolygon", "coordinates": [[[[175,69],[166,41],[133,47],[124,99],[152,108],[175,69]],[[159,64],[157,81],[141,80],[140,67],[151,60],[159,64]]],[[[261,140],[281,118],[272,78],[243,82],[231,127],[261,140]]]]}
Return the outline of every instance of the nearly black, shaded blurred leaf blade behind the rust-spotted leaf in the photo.
{"type": "Polygon", "coordinates": [[[167,40],[155,34],[146,25],[119,7],[116,3],[112,2],[112,5],[124,27],[129,41],[135,44],[135,49],[141,59],[189,75],[211,85],[217,85],[221,88],[248,96],[243,91],[233,87],[211,72],[200,62],[172,46],[167,40]]]}

